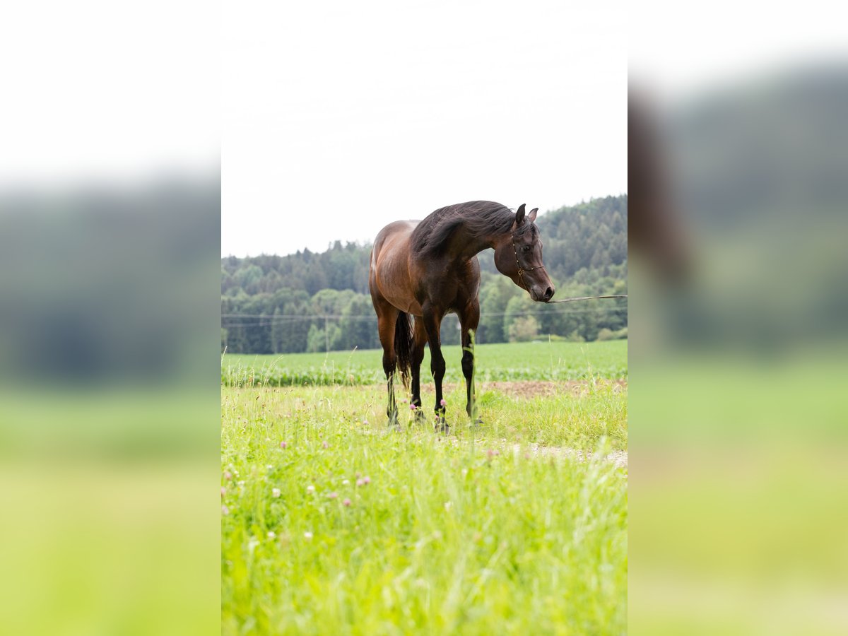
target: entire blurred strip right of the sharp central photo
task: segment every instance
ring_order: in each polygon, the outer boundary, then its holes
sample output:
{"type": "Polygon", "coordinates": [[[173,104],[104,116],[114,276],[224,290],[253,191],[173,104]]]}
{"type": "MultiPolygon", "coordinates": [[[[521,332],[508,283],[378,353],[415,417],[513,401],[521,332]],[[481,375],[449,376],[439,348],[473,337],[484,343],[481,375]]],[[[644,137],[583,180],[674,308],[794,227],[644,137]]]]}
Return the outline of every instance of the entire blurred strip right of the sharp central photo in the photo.
{"type": "Polygon", "coordinates": [[[845,40],[666,10],[631,41],[629,627],[845,633],[845,40]]]}

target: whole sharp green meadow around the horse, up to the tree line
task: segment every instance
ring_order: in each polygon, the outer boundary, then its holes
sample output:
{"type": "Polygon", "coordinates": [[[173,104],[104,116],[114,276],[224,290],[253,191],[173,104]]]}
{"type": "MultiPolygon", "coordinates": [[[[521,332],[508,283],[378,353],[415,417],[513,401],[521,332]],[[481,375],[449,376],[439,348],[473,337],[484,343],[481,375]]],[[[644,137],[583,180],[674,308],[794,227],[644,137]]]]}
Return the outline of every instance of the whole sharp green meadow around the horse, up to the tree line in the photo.
{"type": "Polygon", "coordinates": [[[627,343],[477,347],[475,426],[455,349],[449,435],[380,352],[223,356],[222,633],[626,632],[627,343]]]}

